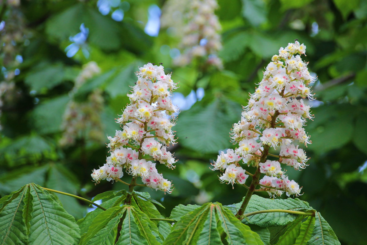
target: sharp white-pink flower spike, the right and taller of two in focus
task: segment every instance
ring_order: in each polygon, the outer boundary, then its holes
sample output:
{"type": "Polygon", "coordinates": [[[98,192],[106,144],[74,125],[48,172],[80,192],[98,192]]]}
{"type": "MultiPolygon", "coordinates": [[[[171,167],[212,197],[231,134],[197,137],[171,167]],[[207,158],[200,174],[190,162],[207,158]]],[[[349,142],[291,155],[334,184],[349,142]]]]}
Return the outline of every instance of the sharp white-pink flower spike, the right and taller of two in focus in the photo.
{"type": "Polygon", "coordinates": [[[297,143],[310,144],[309,136],[302,126],[306,119],[312,119],[310,107],[302,99],[312,99],[308,85],[314,78],[307,69],[307,63],[301,60],[305,54],[305,45],[289,43],[280,48],[279,55],[274,55],[266,67],[264,78],[251,94],[248,105],[242,112],[241,120],[232,128],[232,141],[238,147],[221,152],[217,161],[212,163],[215,169],[224,171],[219,178],[232,185],[244,184],[248,175],[240,166],[244,164],[257,167],[255,176],[265,176],[260,184],[269,195],[301,195],[301,188],[294,180],[289,180],[281,163],[294,169],[304,169],[307,156],[297,143]],[[279,155],[269,154],[269,149],[280,149],[279,155]],[[278,158],[276,161],[266,159],[278,158]]]}

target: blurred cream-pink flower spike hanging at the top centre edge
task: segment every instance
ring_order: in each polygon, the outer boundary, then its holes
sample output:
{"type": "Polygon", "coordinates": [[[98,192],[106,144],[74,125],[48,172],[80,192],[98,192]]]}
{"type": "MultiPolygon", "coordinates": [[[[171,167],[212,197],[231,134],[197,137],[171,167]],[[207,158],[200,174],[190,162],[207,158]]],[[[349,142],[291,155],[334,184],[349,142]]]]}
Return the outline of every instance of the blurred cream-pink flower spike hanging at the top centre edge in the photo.
{"type": "Polygon", "coordinates": [[[204,58],[210,65],[222,68],[222,61],[218,58],[217,52],[222,48],[219,31],[221,25],[218,17],[214,14],[218,8],[216,0],[193,0],[187,1],[170,0],[163,11],[162,26],[172,27],[177,20],[177,11],[174,9],[183,8],[182,24],[177,25],[181,35],[182,54],[175,58],[174,63],[178,66],[190,64],[194,58],[204,58]],[[170,10],[171,9],[171,10],[170,10]]]}

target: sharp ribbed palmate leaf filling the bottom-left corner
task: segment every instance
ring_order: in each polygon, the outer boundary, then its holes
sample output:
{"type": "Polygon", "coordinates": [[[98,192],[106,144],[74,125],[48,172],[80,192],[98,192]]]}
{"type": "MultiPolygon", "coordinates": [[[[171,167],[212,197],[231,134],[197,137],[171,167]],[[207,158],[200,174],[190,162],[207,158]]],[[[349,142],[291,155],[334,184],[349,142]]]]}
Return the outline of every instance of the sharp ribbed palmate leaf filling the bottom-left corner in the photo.
{"type": "Polygon", "coordinates": [[[0,244],[78,244],[79,227],[57,196],[27,184],[0,199],[0,244]]]}

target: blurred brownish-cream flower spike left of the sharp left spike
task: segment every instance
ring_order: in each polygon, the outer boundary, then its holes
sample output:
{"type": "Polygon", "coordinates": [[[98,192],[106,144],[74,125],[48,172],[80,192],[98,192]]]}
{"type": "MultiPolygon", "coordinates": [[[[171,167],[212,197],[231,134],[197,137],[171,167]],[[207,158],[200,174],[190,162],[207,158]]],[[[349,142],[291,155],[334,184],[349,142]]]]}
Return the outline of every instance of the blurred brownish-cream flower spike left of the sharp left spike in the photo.
{"type": "Polygon", "coordinates": [[[75,86],[70,92],[69,101],[63,115],[63,134],[59,140],[60,145],[72,145],[77,138],[87,137],[88,140],[103,142],[103,129],[101,122],[101,112],[103,109],[103,96],[100,89],[95,89],[88,96],[86,101],[76,102],[73,99],[76,91],[90,78],[101,72],[97,63],[90,61],[83,66],[83,69],[75,79],[75,86]]]}

